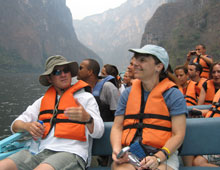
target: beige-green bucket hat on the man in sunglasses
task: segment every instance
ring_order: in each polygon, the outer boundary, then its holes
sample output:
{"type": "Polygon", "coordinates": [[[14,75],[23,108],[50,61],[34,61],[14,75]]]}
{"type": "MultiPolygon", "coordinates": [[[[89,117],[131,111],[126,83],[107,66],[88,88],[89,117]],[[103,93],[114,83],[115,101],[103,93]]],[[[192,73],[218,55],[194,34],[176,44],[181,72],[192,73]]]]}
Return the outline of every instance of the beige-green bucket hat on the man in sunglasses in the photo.
{"type": "Polygon", "coordinates": [[[43,86],[49,86],[51,83],[48,82],[47,76],[53,72],[55,66],[69,65],[71,76],[74,77],[78,73],[78,64],[74,61],[67,61],[65,57],[61,55],[54,55],[46,60],[45,72],[40,75],[39,82],[43,86]]]}

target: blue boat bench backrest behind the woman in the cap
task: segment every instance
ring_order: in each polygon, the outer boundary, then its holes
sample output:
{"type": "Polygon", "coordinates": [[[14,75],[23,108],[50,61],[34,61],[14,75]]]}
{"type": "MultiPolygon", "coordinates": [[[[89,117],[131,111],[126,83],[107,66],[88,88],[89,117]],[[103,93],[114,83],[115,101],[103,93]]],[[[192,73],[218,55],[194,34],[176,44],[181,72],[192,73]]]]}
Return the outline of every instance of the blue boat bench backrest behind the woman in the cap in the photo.
{"type": "MultiPolygon", "coordinates": [[[[112,123],[105,123],[102,138],[94,139],[93,155],[111,155],[110,131],[112,123]]],[[[220,154],[220,118],[193,118],[186,120],[186,135],[180,156],[220,154]]],[[[110,170],[110,167],[90,167],[88,170],[110,170]]],[[[184,167],[180,170],[219,170],[214,167],[184,167]]]]}

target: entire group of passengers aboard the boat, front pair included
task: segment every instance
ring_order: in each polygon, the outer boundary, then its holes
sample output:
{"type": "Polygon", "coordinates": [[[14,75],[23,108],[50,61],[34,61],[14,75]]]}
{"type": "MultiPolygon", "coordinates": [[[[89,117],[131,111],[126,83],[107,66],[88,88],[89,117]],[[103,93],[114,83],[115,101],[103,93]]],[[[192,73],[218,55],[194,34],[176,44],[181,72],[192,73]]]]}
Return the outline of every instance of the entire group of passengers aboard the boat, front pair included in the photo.
{"type": "Polygon", "coordinates": [[[36,102],[33,104],[35,115],[30,109],[33,105],[29,106],[11,126],[13,132],[28,131],[33,138],[42,137],[40,151],[35,155],[18,152],[0,161],[0,167],[84,170],[89,165],[109,165],[113,170],[178,170],[180,161],[185,166],[220,166],[219,155],[185,156],[182,160],[178,156],[186,118],[220,117],[220,62],[206,54],[203,44],[189,51],[186,62],[174,70],[163,47],[147,44],[129,51],[133,56],[123,76],[115,65],[100,68],[94,59],[85,59],[78,67],[76,62],[67,62],[62,56],[48,58],[39,81],[49,89],[38,100],[37,108],[36,102]],[[85,91],[81,92],[82,89],[85,91]],[[69,98],[74,104],[65,104],[69,98]],[[55,102],[49,104],[47,100],[55,102]],[[188,113],[187,106],[195,105],[211,108],[192,109],[188,113]],[[54,112],[45,117],[43,112],[47,109],[64,111],[61,117],[54,112]],[[91,158],[91,138],[102,136],[103,122],[113,122],[110,135],[113,153],[91,158]],[[65,127],[58,130],[60,123],[65,127]],[[61,133],[62,130],[67,133],[61,133]],[[69,133],[73,132],[79,135],[71,136],[69,133]],[[72,149],[65,149],[67,146],[72,149]],[[119,156],[126,146],[144,150],[140,164],[132,163],[128,154],[119,156]]]}

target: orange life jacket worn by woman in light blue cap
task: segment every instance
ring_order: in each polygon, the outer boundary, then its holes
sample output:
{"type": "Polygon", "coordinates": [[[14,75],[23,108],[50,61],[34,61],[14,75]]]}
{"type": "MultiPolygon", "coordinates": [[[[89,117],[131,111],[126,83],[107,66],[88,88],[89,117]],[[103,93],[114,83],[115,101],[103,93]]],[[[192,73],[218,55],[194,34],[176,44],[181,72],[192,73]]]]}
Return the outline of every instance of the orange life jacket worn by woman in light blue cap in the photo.
{"type": "Polygon", "coordinates": [[[122,133],[122,145],[128,146],[133,141],[140,126],[140,117],[143,118],[142,143],[156,148],[161,148],[171,137],[171,117],[163,98],[163,93],[176,86],[168,78],[162,80],[150,92],[144,113],[140,113],[142,87],[141,81],[132,83],[131,91],[127,101],[124,117],[124,128],[122,133]]]}

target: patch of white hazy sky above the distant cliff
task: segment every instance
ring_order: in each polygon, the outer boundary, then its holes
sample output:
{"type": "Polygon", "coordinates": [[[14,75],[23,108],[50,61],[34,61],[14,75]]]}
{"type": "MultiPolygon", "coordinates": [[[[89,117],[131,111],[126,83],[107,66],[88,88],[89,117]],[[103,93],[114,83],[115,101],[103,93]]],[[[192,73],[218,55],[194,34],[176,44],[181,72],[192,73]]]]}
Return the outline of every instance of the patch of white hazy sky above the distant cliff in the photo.
{"type": "Polygon", "coordinates": [[[83,19],[86,16],[102,13],[110,8],[120,6],[126,0],[66,0],[66,5],[72,12],[73,19],[83,19]]]}

